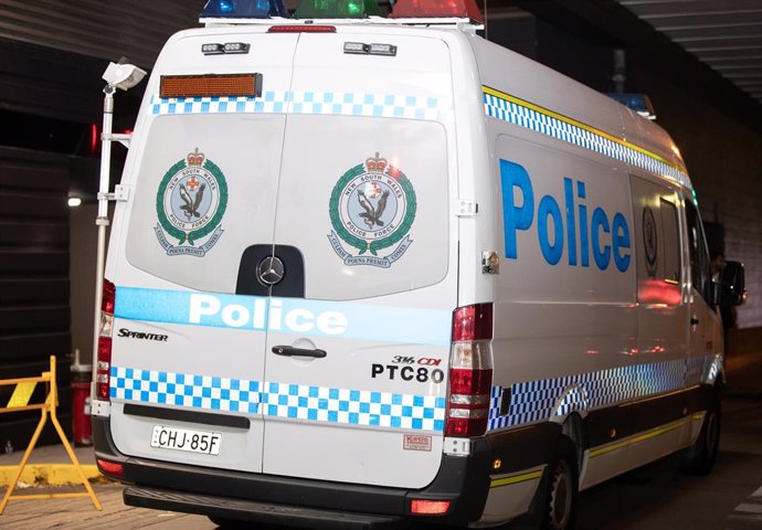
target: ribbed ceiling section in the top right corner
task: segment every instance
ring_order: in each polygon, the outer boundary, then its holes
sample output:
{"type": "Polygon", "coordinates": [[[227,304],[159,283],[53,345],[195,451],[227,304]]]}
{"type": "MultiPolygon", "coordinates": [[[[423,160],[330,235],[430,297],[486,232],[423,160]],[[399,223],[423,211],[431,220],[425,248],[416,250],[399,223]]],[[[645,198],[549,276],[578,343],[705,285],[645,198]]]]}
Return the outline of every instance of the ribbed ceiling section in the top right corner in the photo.
{"type": "Polygon", "coordinates": [[[616,0],[762,104],[762,0],[616,0]]]}

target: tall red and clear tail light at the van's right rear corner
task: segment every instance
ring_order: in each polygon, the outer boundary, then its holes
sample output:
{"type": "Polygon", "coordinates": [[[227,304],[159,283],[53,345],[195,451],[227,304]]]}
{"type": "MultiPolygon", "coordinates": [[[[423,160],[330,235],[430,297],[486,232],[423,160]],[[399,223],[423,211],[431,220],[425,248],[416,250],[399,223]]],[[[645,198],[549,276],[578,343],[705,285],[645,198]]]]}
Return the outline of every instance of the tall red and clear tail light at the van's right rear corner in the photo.
{"type": "Polygon", "coordinates": [[[491,339],[491,304],[455,309],[449,349],[447,436],[479,436],[487,431],[493,388],[491,339]]]}

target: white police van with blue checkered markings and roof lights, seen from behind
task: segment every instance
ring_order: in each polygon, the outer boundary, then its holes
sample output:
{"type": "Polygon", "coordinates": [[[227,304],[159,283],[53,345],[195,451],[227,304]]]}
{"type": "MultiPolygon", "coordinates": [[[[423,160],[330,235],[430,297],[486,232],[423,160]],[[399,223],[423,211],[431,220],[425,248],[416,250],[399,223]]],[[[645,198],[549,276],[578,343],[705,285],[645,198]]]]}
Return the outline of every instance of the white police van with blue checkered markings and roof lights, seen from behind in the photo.
{"type": "Polygon", "coordinates": [[[568,529],[617,474],[708,473],[742,269],[669,136],[470,2],[278,1],[210,1],[130,138],[93,402],[125,501],[568,529]]]}

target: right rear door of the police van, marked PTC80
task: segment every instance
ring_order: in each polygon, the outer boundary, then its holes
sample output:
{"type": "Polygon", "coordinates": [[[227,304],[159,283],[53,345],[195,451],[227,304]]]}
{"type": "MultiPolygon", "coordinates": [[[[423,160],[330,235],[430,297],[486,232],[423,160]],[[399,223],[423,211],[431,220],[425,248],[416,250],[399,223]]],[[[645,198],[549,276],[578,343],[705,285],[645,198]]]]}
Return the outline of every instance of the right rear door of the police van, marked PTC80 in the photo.
{"type": "Polygon", "coordinates": [[[442,459],[457,301],[449,57],[442,41],[395,34],[372,38],[395,56],[343,52],[369,39],[299,36],[263,470],[419,488],[442,459]]]}

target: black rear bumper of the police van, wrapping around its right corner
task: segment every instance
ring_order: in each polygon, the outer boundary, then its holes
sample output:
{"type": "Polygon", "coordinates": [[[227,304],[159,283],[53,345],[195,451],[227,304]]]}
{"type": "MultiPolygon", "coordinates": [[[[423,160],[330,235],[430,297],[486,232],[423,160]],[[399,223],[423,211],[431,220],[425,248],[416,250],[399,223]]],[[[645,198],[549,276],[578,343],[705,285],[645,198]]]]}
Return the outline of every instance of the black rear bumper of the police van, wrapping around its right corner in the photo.
{"type": "Polygon", "coordinates": [[[339,528],[336,521],[341,521],[341,528],[358,529],[400,528],[419,520],[446,524],[475,522],[484,511],[496,456],[504,462],[516,459],[522,467],[527,466],[528,453],[531,459],[547,457],[544,452],[537,451],[537,436],[543,436],[542,433],[532,433],[518,446],[511,444],[510,452],[505,443],[495,444],[498,437],[485,436],[475,441],[467,457],[443,455],[440,473],[427,487],[406,489],[129,457],[115,447],[109,418],[103,416],[93,416],[93,435],[96,458],[121,464],[123,476],[113,478],[134,486],[125,491],[127,505],[303,528],[324,528],[320,524],[326,523],[327,517],[334,527],[325,528],[339,528]],[[522,451],[532,446],[532,451],[522,451]],[[451,507],[443,516],[419,516],[410,511],[412,499],[448,500],[451,507]]]}

